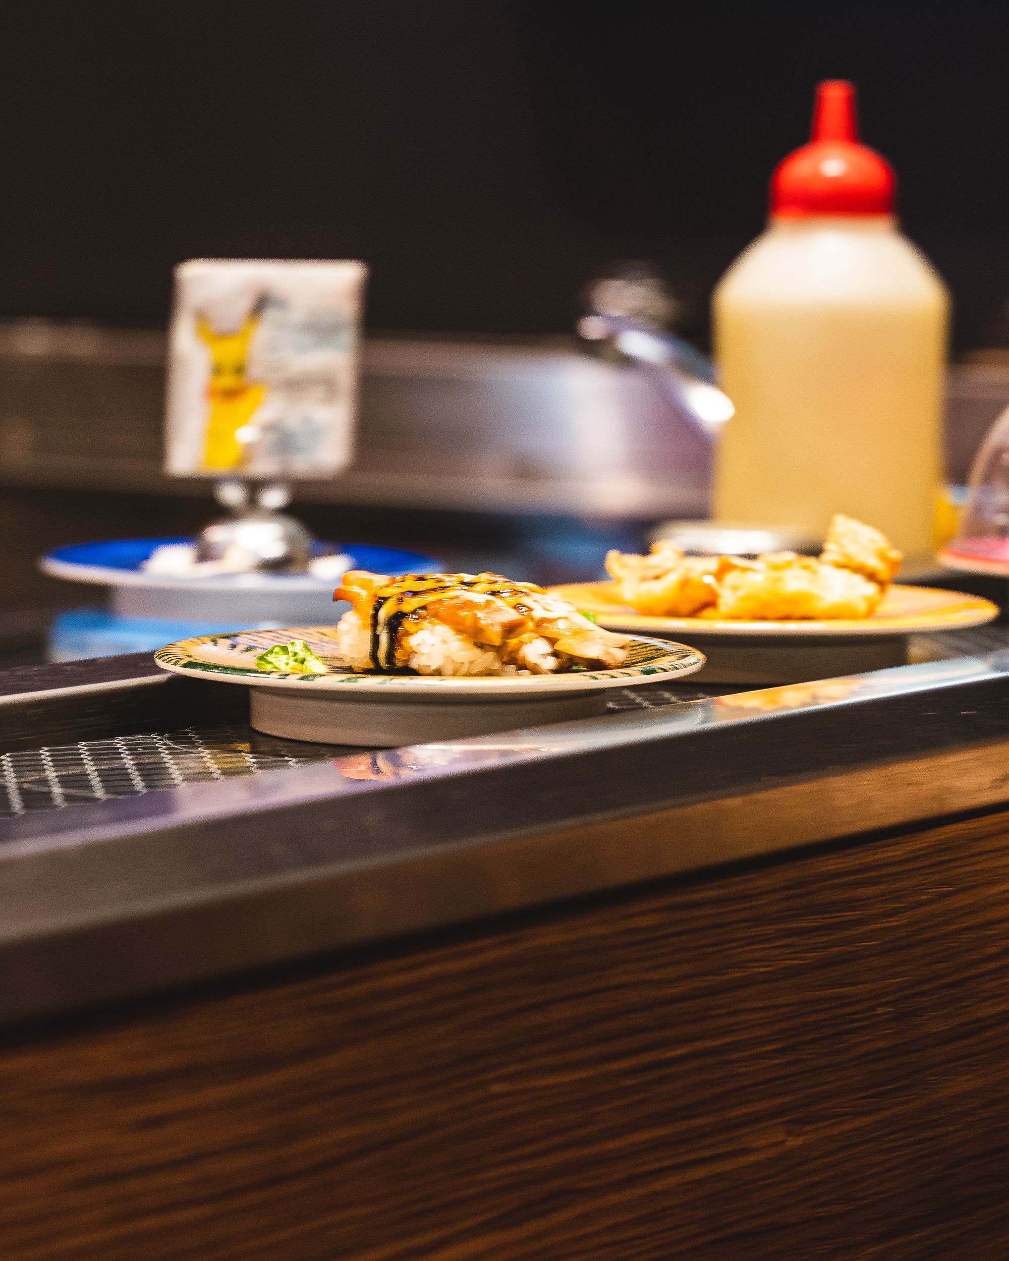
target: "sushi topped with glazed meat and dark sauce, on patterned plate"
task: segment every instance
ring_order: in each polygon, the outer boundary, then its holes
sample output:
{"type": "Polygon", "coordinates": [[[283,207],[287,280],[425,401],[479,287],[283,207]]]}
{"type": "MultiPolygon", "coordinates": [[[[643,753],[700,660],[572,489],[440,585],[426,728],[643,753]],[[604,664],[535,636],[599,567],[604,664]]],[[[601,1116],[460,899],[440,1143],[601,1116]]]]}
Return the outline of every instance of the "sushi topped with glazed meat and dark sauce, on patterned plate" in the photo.
{"type": "Polygon", "coordinates": [[[499,574],[343,575],[337,625],[356,670],[417,675],[551,675],[608,670],[627,658],[627,636],[602,630],[566,600],[499,574]]]}

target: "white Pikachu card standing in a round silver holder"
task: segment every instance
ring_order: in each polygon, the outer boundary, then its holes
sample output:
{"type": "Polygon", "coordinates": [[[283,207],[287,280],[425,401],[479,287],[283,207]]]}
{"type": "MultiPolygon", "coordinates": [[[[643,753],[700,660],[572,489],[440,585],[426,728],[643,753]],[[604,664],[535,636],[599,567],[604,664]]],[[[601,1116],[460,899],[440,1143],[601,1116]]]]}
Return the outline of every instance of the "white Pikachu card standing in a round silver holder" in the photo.
{"type": "Polygon", "coordinates": [[[323,478],[353,454],[363,262],[193,259],[175,269],[165,467],[323,478]]]}

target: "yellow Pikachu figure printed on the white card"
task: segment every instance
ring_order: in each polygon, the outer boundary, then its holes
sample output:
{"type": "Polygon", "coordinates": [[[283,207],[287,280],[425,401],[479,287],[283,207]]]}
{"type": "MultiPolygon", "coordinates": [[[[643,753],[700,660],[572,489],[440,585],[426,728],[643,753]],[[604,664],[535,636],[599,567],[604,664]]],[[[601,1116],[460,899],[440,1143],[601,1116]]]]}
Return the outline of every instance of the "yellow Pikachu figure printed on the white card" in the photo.
{"type": "Polygon", "coordinates": [[[218,333],[209,319],[195,313],[197,335],[211,352],[211,380],[207,386],[207,429],[203,439],[203,468],[237,469],[246,445],[240,431],[259,411],[266,386],[246,378],[248,343],[262,318],[264,300],[252,306],[241,328],[218,333]]]}

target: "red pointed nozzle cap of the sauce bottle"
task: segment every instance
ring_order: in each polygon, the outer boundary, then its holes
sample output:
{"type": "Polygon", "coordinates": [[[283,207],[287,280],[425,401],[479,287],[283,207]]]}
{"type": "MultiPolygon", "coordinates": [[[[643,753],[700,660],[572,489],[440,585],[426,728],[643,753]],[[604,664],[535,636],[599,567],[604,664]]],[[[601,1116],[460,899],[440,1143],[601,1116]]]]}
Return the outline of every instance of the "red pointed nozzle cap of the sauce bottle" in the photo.
{"type": "Polygon", "coordinates": [[[771,213],[892,214],[895,183],[885,158],[859,144],[854,84],[827,79],[816,88],[810,142],[771,177],[771,213]]]}

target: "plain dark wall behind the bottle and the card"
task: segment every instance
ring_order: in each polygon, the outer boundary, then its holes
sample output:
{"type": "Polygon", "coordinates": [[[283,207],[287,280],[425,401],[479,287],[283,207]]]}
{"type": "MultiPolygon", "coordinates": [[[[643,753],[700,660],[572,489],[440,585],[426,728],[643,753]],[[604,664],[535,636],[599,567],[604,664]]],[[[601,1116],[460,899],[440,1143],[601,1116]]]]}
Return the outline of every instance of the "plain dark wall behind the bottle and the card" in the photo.
{"type": "Polygon", "coordinates": [[[8,0],[0,315],[159,324],[183,259],[348,256],[372,328],[552,333],[643,257],[703,339],[851,77],[957,346],[1009,344],[1008,61],[1004,3],[8,0]]]}

